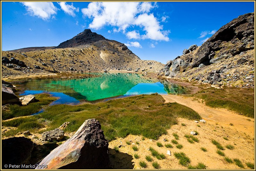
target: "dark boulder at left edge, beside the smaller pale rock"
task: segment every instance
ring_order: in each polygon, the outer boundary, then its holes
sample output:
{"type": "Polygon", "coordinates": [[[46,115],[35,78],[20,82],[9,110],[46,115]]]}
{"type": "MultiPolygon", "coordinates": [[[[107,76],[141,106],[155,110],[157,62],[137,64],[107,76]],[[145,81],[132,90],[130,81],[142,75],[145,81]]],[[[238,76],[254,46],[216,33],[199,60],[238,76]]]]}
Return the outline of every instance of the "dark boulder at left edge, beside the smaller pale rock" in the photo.
{"type": "Polygon", "coordinates": [[[13,93],[12,88],[2,85],[2,105],[7,103],[20,103],[20,99],[13,93]]]}

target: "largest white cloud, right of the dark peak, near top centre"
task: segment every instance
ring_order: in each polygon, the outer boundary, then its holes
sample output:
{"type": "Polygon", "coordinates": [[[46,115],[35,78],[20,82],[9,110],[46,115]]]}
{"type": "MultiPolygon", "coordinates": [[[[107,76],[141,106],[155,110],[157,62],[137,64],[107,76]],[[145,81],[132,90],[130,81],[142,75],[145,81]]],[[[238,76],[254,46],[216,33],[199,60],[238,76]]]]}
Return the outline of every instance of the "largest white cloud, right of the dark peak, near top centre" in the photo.
{"type": "Polygon", "coordinates": [[[126,36],[133,39],[153,39],[169,41],[163,33],[163,26],[157,21],[153,13],[148,14],[157,5],[151,2],[91,2],[87,8],[81,11],[84,17],[92,18],[89,27],[100,29],[105,25],[117,27],[113,32],[123,31],[125,34],[129,27],[139,26],[144,35],[135,34],[135,31],[128,31],[126,36]]]}

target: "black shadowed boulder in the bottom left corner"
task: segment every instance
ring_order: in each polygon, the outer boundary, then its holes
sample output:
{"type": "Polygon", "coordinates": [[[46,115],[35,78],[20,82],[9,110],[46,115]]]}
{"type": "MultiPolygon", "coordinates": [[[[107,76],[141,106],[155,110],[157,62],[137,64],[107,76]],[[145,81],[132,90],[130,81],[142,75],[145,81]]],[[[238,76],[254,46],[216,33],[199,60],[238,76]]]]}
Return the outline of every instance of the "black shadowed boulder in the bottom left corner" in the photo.
{"type": "MultiPolygon", "coordinates": [[[[34,144],[31,139],[25,137],[12,137],[2,140],[2,169],[9,168],[9,165],[30,164],[31,152],[34,144]],[[4,167],[7,165],[8,167],[4,167]]],[[[34,163],[33,163],[34,164],[34,163]]]]}

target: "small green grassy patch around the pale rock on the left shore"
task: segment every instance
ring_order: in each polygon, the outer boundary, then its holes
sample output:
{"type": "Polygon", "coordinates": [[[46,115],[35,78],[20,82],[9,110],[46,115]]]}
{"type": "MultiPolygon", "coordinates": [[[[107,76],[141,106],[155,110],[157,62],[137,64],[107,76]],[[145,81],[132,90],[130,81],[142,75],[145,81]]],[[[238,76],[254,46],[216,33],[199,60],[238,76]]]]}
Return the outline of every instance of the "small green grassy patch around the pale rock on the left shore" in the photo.
{"type": "Polygon", "coordinates": [[[37,94],[35,96],[35,102],[29,103],[26,106],[20,106],[18,104],[7,105],[7,107],[9,107],[10,110],[2,110],[2,119],[5,120],[20,116],[31,115],[41,110],[44,105],[48,105],[52,101],[57,99],[57,97],[51,97],[50,94],[37,94]]]}

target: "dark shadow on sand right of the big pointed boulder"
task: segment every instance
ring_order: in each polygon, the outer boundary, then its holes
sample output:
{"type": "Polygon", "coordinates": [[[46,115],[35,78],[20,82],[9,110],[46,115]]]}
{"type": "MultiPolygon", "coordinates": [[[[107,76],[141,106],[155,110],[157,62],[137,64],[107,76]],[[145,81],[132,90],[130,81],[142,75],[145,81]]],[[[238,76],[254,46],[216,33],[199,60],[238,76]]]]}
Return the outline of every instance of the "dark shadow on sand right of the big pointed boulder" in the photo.
{"type": "Polygon", "coordinates": [[[133,169],[133,157],[131,155],[116,152],[112,148],[108,148],[108,152],[112,169],[133,169]]]}

